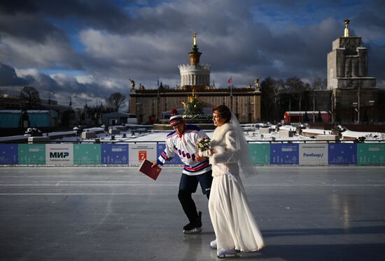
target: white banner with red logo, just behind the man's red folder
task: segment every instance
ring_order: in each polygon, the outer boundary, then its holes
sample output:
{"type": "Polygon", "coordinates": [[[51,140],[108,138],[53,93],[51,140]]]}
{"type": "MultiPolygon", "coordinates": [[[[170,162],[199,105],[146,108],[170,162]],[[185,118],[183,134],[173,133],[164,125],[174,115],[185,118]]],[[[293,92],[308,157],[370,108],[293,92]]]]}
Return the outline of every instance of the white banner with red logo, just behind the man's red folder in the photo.
{"type": "Polygon", "coordinates": [[[139,165],[144,159],[156,161],[156,143],[137,143],[128,145],[128,163],[139,165]]]}

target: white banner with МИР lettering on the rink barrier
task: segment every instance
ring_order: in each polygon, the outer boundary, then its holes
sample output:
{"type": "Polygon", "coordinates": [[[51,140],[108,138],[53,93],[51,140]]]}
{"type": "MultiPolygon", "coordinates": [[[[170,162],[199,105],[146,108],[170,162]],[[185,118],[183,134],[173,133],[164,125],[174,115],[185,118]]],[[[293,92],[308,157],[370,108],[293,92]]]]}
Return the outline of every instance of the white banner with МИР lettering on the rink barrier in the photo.
{"type": "Polygon", "coordinates": [[[45,144],[45,164],[73,165],[73,144],[45,144]]]}

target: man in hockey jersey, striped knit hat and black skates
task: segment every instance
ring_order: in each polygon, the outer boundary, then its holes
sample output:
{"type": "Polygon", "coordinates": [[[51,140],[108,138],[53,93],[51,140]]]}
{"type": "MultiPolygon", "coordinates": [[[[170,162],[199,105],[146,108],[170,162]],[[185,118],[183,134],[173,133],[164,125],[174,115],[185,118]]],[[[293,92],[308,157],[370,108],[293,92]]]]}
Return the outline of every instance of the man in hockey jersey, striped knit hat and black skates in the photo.
{"type": "Polygon", "coordinates": [[[170,125],[174,131],[167,135],[166,149],[160,154],[158,161],[153,162],[153,166],[163,165],[175,154],[179,155],[184,166],[179,182],[178,197],[183,211],[190,221],[183,227],[183,233],[199,233],[202,232],[202,212],[197,213],[197,207],[191,195],[197,191],[199,182],[203,194],[209,198],[213,177],[211,177],[209,158],[198,156],[195,144],[201,137],[207,137],[207,134],[198,126],[186,124],[175,109],[172,110],[170,125]]]}

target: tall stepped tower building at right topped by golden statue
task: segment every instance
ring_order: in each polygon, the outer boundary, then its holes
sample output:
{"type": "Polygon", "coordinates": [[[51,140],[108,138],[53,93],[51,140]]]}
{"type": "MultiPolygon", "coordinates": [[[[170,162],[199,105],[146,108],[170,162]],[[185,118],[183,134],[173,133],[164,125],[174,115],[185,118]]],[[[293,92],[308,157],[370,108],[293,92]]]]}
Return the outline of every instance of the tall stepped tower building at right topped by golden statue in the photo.
{"type": "Polygon", "coordinates": [[[350,36],[349,20],[344,20],[344,36],[332,42],[328,54],[328,90],[332,121],[362,123],[377,121],[380,91],[376,78],[367,73],[367,48],[362,38],[350,36]]]}

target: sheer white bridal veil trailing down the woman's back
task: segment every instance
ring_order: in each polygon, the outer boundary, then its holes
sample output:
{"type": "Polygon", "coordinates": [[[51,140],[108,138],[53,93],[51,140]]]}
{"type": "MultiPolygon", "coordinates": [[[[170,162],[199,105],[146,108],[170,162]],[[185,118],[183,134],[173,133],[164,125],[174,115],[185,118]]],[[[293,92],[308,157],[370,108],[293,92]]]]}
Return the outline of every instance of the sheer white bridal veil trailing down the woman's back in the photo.
{"type": "Polygon", "coordinates": [[[234,113],[231,112],[230,124],[232,128],[237,133],[237,149],[241,151],[239,156],[239,167],[241,174],[244,174],[244,177],[251,177],[258,174],[257,169],[253,166],[253,161],[251,160],[251,155],[248,151],[248,144],[246,142],[246,137],[244,137],[244,132],[239,124],[239,121],[234,113]]]}

